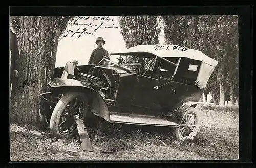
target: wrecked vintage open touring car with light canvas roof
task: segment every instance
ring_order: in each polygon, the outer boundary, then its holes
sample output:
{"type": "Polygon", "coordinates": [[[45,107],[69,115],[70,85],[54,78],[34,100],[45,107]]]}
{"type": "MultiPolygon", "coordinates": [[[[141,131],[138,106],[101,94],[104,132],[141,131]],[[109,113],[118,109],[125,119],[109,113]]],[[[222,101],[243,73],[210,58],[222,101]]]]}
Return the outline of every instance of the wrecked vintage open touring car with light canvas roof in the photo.
{"type": "Polygon", "coordinates": [[[75,120],[93,114],[110,123],[172,127],[178,140],[193,139],[199,129],[195,107],[205,103],[199,100],[218,62],[178,45],[137,45],[114,56],[119,62],[103,58],[77,66],[78,77],[67,64],[55,68],[50,91],[40,94],[52,110],[52,135],[73,136],[75,120]]]}

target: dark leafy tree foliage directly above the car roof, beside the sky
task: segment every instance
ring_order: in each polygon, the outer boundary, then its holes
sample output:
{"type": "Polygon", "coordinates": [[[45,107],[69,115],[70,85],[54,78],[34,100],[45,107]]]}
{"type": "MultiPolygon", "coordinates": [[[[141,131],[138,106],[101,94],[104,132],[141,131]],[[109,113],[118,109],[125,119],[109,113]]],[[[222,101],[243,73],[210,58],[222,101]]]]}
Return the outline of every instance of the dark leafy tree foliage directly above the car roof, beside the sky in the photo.
{"type": "MultiPolygon", "coordinates": [[[[126,47],[159,43],[160,24],[158,16],[120,16],[119,25],[126,47]]],[[[126,62],[134,62],[127,57],[126,62]]],[[[142,60],[142,67],[152,65],[153,59],[142,60]]]]}

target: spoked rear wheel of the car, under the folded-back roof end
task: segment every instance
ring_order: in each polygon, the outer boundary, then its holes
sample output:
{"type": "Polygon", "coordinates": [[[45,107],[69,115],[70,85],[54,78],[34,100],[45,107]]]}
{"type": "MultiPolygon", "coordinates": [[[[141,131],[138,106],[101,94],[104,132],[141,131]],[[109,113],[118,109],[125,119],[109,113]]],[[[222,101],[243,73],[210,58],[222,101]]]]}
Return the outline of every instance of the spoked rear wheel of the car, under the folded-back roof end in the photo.
{"type": "MultiPolygon", "coordinates": [[[[179,127],[176,127],[175,128],[175,137],[177,140],[179,141],[184,141],[187,139],[190,139],[190,140],[193,140],[194,137],[197,135],[197,132],[198,132],[198,129],[199,129],[199,115],[198,115],[198,110],[195,109],[194,107],[189,107],[186,111],[182,112],[182,117],[180,118],[180,121],[179,121],[179,124],[180,126],[179,127]],[[191,117],[190,119],[192,120],[192,116],[190,116],[190,114],[193,114],[194,115],[194,119],[195,119],[195,123],[191,124],[193,126],[191,126],[192,130],[187,127],[187,126],[184,126],[184,122],[186,121],[186,116],[189,115],[188,117],[191,117]],[[189,133],[186,132],[186,131],[192,131],[189,133]],[[187,135],[187,136],[185,136],[187,135]]],[[[189,119],[189,120],[190,120],[189,119]]],[[[189,121],[188,120],[188,121],[189,121]]]]}

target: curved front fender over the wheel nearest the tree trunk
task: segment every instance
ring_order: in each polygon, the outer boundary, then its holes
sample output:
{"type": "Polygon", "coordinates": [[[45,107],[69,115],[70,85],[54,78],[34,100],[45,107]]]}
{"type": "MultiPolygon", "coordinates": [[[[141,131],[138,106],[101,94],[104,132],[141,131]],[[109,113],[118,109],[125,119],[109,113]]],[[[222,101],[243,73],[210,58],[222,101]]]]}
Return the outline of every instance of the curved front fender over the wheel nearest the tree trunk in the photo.
{"type": "MultiPolygon", "coordinates": [[[[89,84],[81,82],[74,79],[61,79],[55,78],[48,81],[49,86],[52,88],[52,91],[55,93],[65,93],[67,91],[79,91],[87,93],[92,100],[93,112],[104,118],[106,121],[110,122],[110,114],[108,106],[106,106],[105,101],[100,96],[100,94],[94,90],[89,84]]],[[[89,99],[90,100],[90,99],[89,99]]]]}

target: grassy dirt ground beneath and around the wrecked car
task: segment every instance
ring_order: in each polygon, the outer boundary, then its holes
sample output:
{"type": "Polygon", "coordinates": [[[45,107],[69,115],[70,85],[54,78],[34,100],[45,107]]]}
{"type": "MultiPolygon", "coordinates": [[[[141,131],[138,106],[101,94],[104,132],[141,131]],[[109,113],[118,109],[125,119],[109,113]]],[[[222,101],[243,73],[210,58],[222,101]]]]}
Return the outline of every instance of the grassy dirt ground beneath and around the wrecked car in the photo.
{"type": "MultiPolygon", "coordinates": [[[[237,110],[238,111],[238,110],[237,110]]],[[[236,160],[239,153],[238,113],[200,109],[194,140],[179,142],[166,127],[101,124],[88,129],[93,152],[82,151],[77,139],[56,139],[33,126],[11,124],[11,161],[56,160],[236,160]],[[102,153],[101,150],[111,151],[102,153]]]]}

